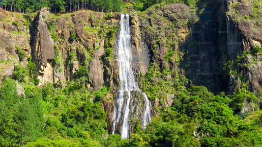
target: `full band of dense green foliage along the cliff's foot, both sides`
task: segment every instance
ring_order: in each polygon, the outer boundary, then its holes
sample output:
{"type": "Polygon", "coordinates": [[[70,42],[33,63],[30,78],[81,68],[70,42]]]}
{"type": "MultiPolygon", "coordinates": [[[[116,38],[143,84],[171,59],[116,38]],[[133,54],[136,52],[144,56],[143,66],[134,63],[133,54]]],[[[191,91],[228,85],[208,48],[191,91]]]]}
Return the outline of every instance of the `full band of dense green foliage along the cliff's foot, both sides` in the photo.
{"type": "Polygon", "coordinates": [[[65,89],[51,83],[42,88],[6,78],[0,88],[1,147],[255,147],[262,144],[262,111],[242,118],[243,98],[256,102],[248,92],[214,96],[203,86],[182,89],[171,107],[156,108],[145,130],[140,125],[130,140],[107,136],[101,98],[103,87],[89,94],[85,86],[68,83],[65,89]],[[92,99],[92,101],[90,101],[92,99]],[[242,100],[242,102],[241,102],[242,100]],[[238,104],[239,103],[239,104],[238,104]]]}

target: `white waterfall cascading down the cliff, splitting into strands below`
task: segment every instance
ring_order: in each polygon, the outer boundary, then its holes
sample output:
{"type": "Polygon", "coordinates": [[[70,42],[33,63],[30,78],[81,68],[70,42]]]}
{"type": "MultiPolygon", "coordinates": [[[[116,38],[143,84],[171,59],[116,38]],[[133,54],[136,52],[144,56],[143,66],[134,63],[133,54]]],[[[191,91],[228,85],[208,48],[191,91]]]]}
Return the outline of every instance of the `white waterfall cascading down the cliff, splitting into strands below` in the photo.
{"type": "MultiPolygon", "coordinates": [[[[130,112],[130,99],[131,91],[140,91],[138,85],[135,82],[134,73],[131,68],[132,52],[131,42],[129,33],[129,15],[122,14],[120,19],[120,31],[118,36],[118,56],[119,56],[119,81],[120,89],[118,91],[118,98],[116,98],[116,111],[114,114],[113,133],[115,133],[116,127],[121,119],[121,115],[124,114],[123,122],[121,126],[121,137],[122,139],[128,139],[130,134],[129,127],[129,112],[130,112]],[[125,106],[125,108],[122,108],[125,106]]],[[[143,126],[150,122],[150,101],[143,93],[144,104],[144,115],[141,116],[143,120],[143,126]]]]}

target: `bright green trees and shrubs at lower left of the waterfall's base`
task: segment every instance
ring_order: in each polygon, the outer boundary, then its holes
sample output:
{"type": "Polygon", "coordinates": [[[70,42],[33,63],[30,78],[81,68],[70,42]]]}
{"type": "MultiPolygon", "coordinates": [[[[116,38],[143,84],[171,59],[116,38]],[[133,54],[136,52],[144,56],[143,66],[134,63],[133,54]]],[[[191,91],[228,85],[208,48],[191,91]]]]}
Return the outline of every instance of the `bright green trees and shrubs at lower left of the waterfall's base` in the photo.
{"type": "Polygon", "coordinates": [[[95,95],[85,88],[77,89],[75,84],[64,90],[50,83],[41,89],[26,85],[25,95],[19,96],[14,80],[6,79],[1,85],[0,130],[5,132],[0,133],[1,147],[99,147],[103,142],[105,112],[100,102],[89,101],[95,95]]]}

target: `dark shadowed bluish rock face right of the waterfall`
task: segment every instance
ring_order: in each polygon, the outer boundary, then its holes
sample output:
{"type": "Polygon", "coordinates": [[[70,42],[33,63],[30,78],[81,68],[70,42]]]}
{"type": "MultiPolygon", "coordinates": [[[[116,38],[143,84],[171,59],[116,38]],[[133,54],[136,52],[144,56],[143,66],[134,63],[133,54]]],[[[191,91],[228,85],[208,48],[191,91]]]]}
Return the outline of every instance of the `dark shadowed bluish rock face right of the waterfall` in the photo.
{"type": "Polygon", "coordinates": [[[223,13],[221,9],[222,5],[207,5],[199,20],[192,25],[185,43],[179,47],[186,52],[180,68],[185,69],[187,78],[194,85],[203,85],[213,93],[226,91],[228,82],[228,76],[223,71],[227,59],[227,55],[223,55],[227,33],[225,18],[218,16],[223,13]]]}

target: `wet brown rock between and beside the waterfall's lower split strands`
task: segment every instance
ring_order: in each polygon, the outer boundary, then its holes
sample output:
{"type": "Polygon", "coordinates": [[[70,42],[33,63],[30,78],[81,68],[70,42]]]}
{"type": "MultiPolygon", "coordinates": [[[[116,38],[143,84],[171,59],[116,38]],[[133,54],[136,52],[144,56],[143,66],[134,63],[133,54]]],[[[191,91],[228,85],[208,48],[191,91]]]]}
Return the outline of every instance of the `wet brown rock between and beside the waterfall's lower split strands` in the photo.
{"type": "MultiPolygon", "coordinates": [[[[145,108],[143,108],[144,104],[145,104],[145,98],[143,97],[142,92],[140,91],[131,91],[131,99],[130,99],[130,105],[129,105],[129,116],[128,116],[128,120],[129,121],[129,130],[130,132],[134,132],[134,129],[136,127],[136,125],[143,124],[141,121],[143,120],[143,116],[145,113],[145,108]]],[[[115,122],[115,115],[116,115],[116,103],[114,102],[116,98],[118,98],[119,93],[115,93],[115,94],[108,94],[104,97],[103,99],[103,109],[105,110],[105,112],[107,113],[107,130],[109,134],[112,134],[113,132],[113,123],[115,122]]],[[[123,102],[123,106],[122,106],[122,110],[121,110],[121,115],[120,115],[120,119],[119,122],[117,123],[117,127],[115,130],[115,133],[120,134],[121,132],[121,126],[123,124],[123,119],[124,119],[124,109],[126,107],[126,100],[128,98],[128,93],[124,92],[124,102],[123,102]]]]}

